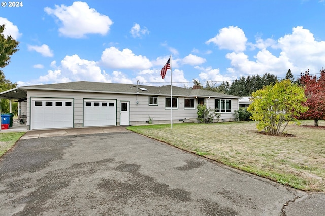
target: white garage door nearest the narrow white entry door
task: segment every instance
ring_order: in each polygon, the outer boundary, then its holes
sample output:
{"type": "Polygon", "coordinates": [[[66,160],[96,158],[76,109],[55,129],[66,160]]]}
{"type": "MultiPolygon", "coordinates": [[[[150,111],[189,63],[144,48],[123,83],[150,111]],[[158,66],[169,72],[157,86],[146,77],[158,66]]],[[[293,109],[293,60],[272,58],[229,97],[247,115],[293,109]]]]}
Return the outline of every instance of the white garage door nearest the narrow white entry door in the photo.
{"type": "Polygon", "coordinates": [[[112,125],[116,125],[116,100],[84,99],[84,127],[112,125]]]}

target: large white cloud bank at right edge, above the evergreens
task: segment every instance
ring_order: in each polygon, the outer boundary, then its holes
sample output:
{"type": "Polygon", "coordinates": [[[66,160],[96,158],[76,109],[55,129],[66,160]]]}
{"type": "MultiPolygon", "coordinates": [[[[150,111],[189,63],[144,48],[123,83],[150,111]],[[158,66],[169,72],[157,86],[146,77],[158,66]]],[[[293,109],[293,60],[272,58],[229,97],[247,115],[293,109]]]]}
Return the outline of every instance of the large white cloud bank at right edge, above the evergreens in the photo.
{"type": "MultiPolygon", "coordinates": [[[[301,26],[293,28],[292,34],[284,35],[278,40],[256,38],[253,47],[260,49],[254,60],[244,52],[232,52],[226,54],[231,62],[229,73],[243,75],[256,75],[271,73],[278,77],[284,77],[288,69],[294,75],[309,69],[317,73],[324,67],[325,41],[317,41],[314,35],[301,26]],[[268,48],[279,49],[278,56],[272,54],[268,48]]],[[[278,52],[278,51],[277,51],[278,52]]]]}

